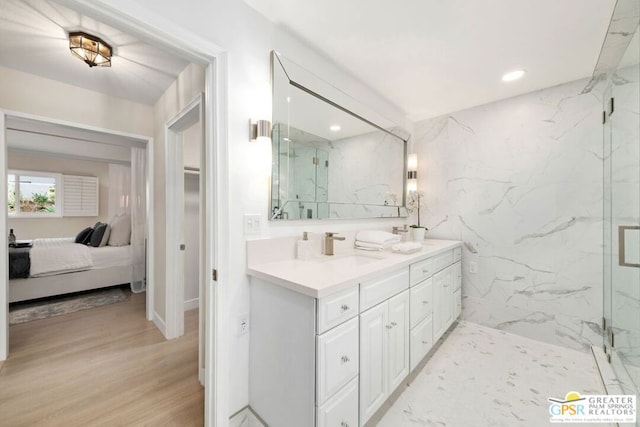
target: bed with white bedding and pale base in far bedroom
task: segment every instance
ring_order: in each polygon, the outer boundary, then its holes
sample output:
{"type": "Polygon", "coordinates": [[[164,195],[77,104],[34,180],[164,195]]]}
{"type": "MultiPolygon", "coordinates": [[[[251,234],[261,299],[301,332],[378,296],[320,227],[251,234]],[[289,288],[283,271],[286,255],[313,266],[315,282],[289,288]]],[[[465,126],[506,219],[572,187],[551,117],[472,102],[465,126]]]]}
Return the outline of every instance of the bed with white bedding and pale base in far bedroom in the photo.
{"type": "Polygon", "coordinates": [[[30,268],[22,275],[28,277],[9,280],[10,303],[131,283],[133,278],[131,245],[91,247],[74,238],[36,239],[32,248],[16,252],[23,260],[29,253],[30,268]]]}

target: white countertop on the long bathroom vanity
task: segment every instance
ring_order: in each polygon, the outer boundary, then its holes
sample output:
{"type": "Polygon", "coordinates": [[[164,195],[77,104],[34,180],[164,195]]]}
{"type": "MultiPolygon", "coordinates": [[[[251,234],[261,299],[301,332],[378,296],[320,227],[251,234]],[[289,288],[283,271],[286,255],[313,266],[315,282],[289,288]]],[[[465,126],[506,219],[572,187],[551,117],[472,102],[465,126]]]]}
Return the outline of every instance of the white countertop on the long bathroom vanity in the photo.
{"type": "Polygon", "coordinates": [[[364,280],[461,245],[462,242],[455,240],[427,239],[422,250],[407,255],[390,250],[372,252],[353,249],[339,255],[320,255],[309,260],[286,259],[257,265],[249,263],[247,274],[313,298],[324,298],[364,280]]]}

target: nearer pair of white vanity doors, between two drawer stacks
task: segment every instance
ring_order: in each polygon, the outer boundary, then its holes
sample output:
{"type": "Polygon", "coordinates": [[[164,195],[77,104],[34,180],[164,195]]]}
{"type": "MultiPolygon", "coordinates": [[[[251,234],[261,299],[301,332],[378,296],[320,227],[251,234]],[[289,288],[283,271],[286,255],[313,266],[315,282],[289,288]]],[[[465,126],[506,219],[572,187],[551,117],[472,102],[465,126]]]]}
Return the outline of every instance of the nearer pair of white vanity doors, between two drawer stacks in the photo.
{"type": "Polygon", "coordinates": [[[364,425],[409,375],[408,290],[360,314],[360,369],[364,425]]]}

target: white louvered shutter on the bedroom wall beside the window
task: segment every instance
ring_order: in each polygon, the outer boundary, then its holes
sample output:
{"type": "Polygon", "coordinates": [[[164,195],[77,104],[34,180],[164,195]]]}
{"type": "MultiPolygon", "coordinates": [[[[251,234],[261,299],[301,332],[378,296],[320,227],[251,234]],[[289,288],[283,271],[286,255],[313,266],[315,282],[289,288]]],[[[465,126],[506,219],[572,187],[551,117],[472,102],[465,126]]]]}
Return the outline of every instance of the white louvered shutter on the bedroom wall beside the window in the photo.
{"type": "Polygon", "coordinates": [[[64,216],[98,216],[98,178],[63,175],[64,216]]]}

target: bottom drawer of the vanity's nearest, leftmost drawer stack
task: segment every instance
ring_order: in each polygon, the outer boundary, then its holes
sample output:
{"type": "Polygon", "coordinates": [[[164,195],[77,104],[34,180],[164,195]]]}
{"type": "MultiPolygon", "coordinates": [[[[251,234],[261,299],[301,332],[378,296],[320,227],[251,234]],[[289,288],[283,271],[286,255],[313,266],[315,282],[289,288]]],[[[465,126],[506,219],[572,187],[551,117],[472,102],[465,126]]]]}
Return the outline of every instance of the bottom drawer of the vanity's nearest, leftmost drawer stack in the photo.
{"type": "Polygon", "coordinates": [[[358,378],[316,411],[317,427],[358,427],[358,378]]]}

